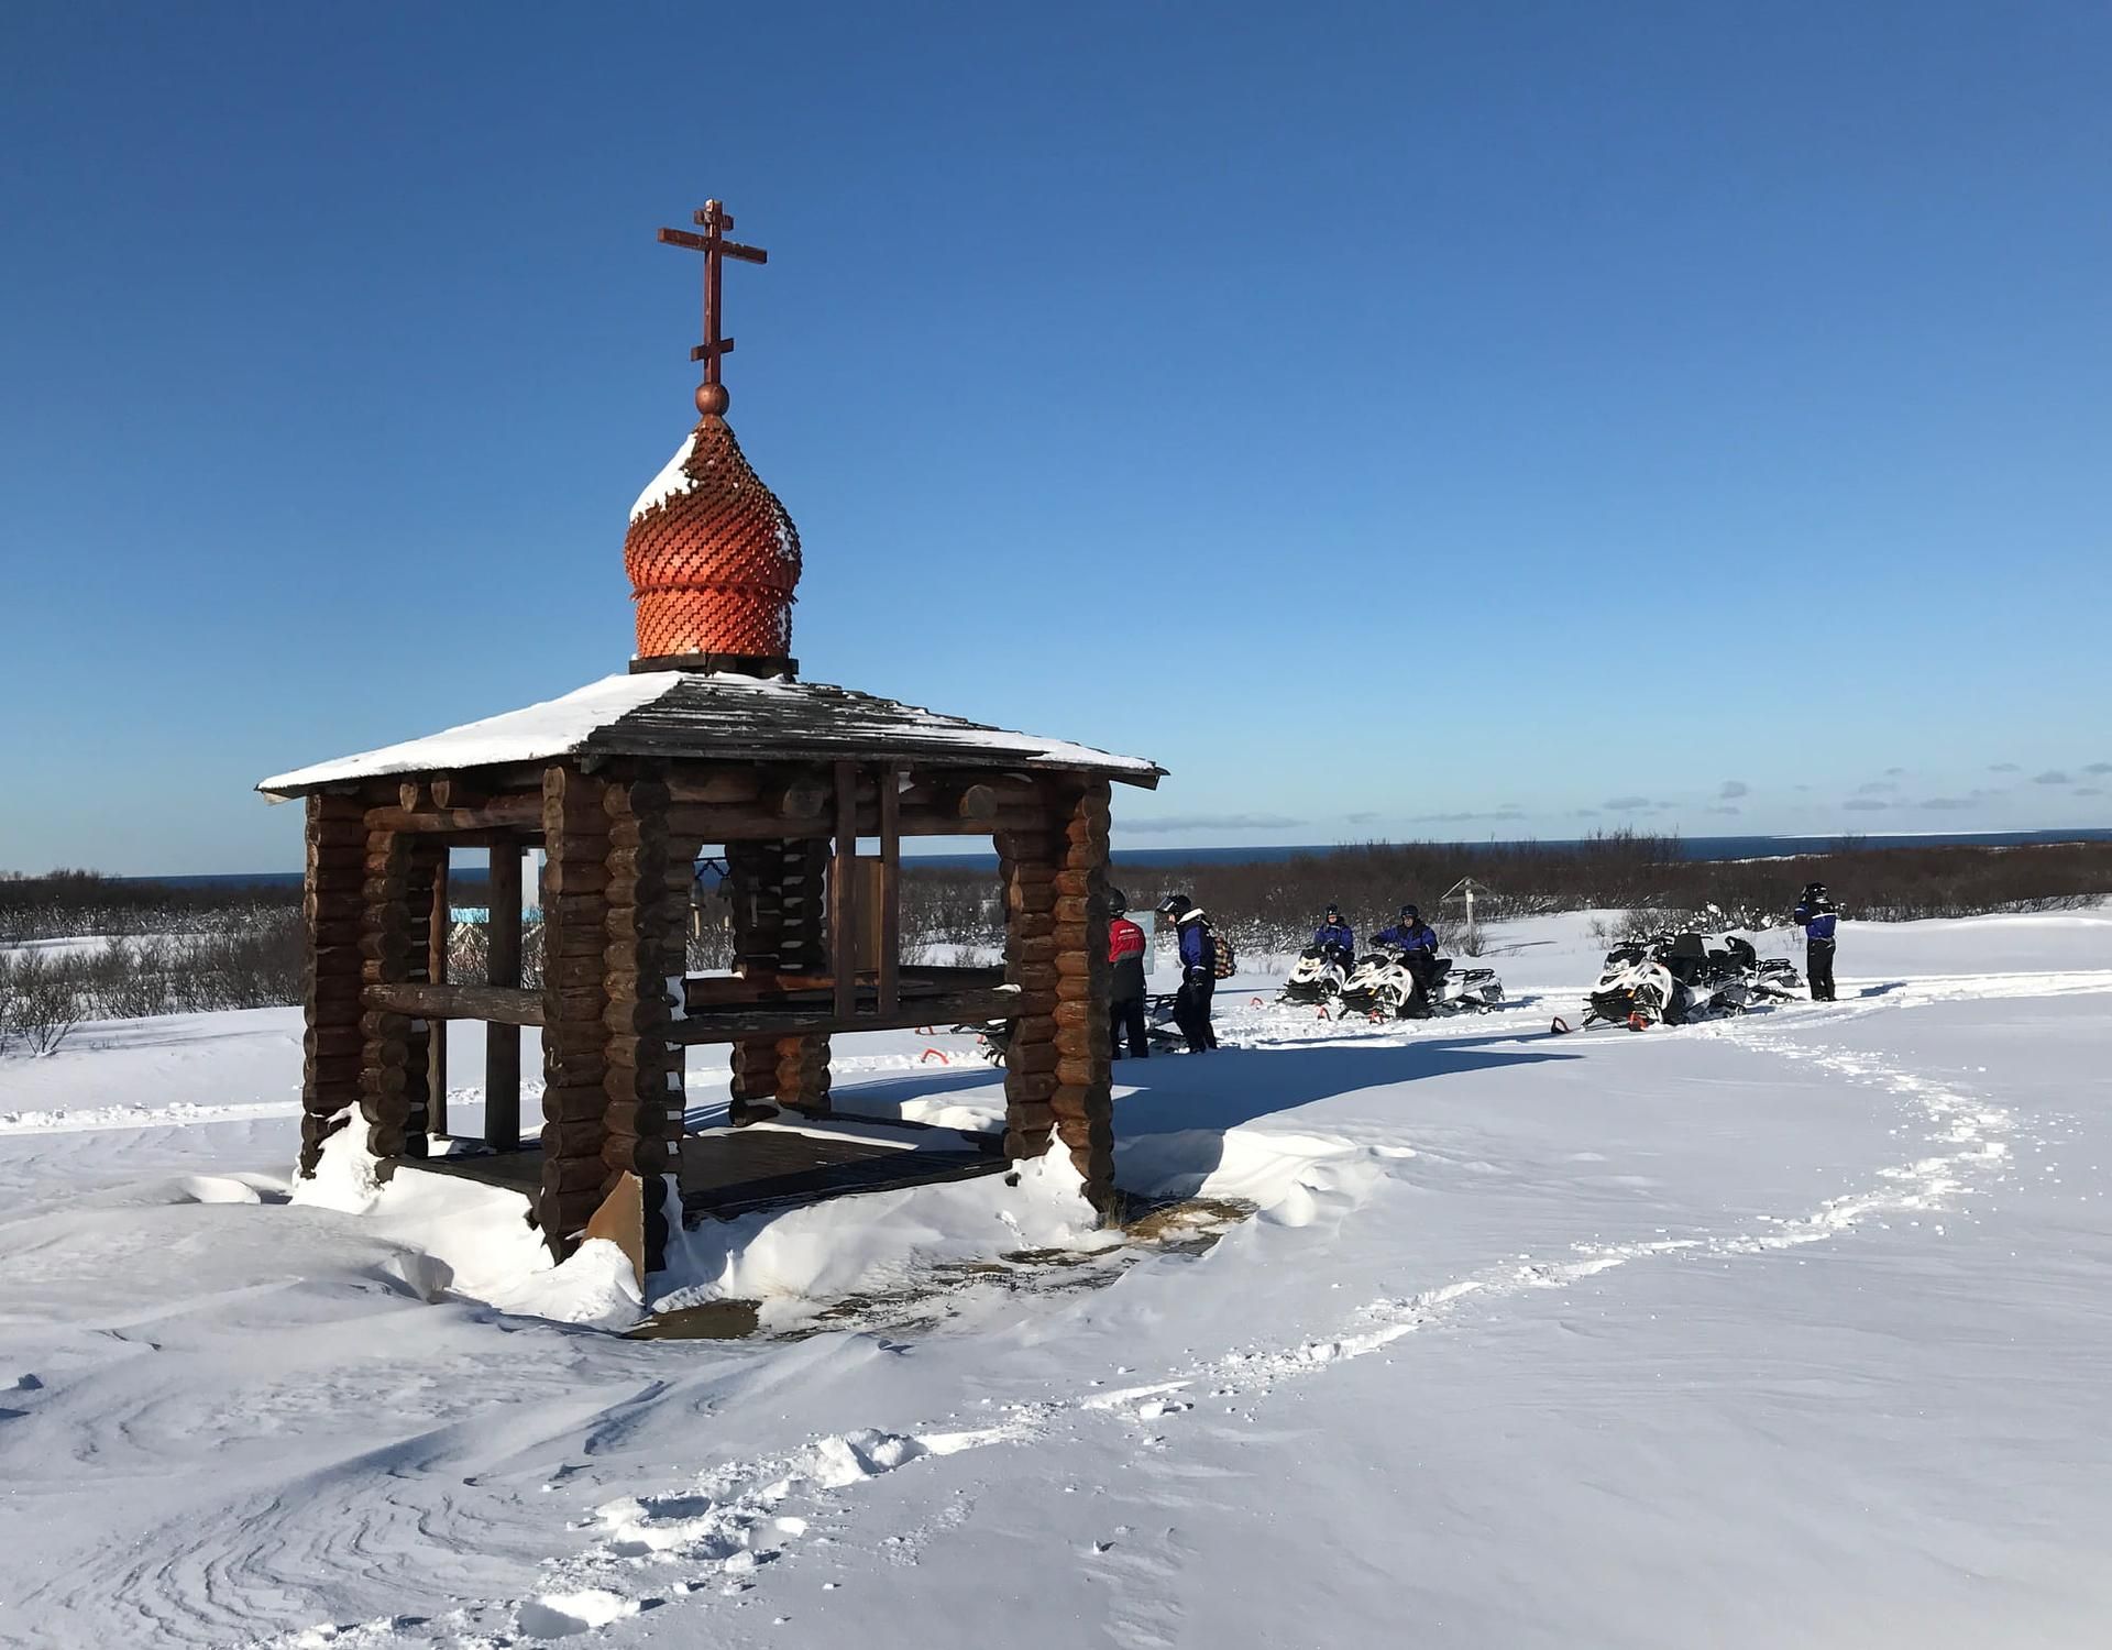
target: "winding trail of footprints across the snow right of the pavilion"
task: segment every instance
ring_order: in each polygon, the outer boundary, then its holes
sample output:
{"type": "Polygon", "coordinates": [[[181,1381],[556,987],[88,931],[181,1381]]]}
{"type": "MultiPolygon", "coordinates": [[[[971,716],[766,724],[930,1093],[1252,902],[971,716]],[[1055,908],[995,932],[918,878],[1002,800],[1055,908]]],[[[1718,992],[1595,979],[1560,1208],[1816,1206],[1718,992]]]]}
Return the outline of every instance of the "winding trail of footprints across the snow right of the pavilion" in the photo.
{"type": "MultiPolygon", "coordinates": [[[[1717,1020],[1683,1033],[1719,1037],[1757,1056],[1812,1063],[1840,1077],[1897,1096],[1909,1122],[1932,1147],[1924,1156],[1878,1173],[1859,1192],[1829,1198],[1791,1217],[1759,1217],[1738,1230],[1694,1236],[1649,1236],[1630,1242],[1578,1244],[1561,1259],[1516,1259],[1400,1299],[1375,1299],[1358,1308],[1333,1335],[1297,1346],[1257,1346],[1223,1352],[1155,1380],[1092,1392],[1050,1396],[999,1407],[995,1420],[959,1424],[959,1415],[931,1430],[893,1432],[866,1428],[824,1437],[775,1458],[729,1462],[684,1487],[623,1496],[600,1506],[587,1525],[587,1544],[545,1565],[543,1582],[526,1599],[465,1606],[429,1620],[374,1620],[355,1627],[313,1627],[300,1633],[256,1639],[258,1650],[408,1650],[410,1646],[513,1644],[520,1635],[536,1642],[589,1633],[612,1620],[676,1599],[739,1597],[769,1587],[790,1568],[798,1544],[824,1523],[841,1496],[883,1475],[942,1464],[953,1456],[986,1447],[1060,1447],[1079,1428],[1119,1424],[1138,1432],[1147,1447],[1164,1447],[1178,1418],[1198,1401],[1255,1403],[1280,1384],[1299,1382],[1394,1346],[1407,1335],[1445,1327],[1466,1308],[1489,1308],[1510,1297],[1569,1289],[1622,1265],[1666,1257],[1730,1261],[1751,1255],[1825,1242],[1852,1227],[1890,1215],[1920,1215],[1954,1208],[1983,1192],[1981,1181],[2009,1154],[2013,1113],[2000,1103],[1964,1088],[1905,1071],[1873,1054],[1818,1048],[1802,1031],[1856,1020],[1892,1008],[1913,1008],[1983,997],[2061,997],[2112,991],[2112,970],[2059,974],[1998,974],[1983,978],[1924,978],[1850,982],[1861,995],[1840,1004],[1812,1004],[1791,1014],[1757,1014],[1717,1020]]],[[[1364,1033],[1356,1023],[1324,1027],[1333,1035],[1364,1033]]],[[[1394,1033],[1398,1035],[1398,1031],[1394,1033]]],[[[1660,1037],[1662,1039],[1662,1037],[1660,1037]]],[[[938,1515],[938,1525],[965,1517],[938,1515]]],[[[914,1561],[914,1549],[940,1527],[902,1532],[887,1540],[883,1557],[914,1561]]],[[[826,1540],[826,1536],[819,1536],[826,1540]]],[[[1121,1570],[1115,1557],[1094,1546],[1100,1568],[1121,1570]]],[[[1119,1576],[1113,1578],[1119,1580],[1119,1576]]],[[[1124,1589],[1130,1593],[1134,1589],[1124,1589]]],[[[1149,1610],[1149,1597],[1132,1599],[1149,1610]]],[[[1162,1623],[1164,1625],[1164,1623],[1162,1623]]],[[[1134,1620],[1138,1639],[1159,1637],[1151,1620],[1134,1620]]]]}

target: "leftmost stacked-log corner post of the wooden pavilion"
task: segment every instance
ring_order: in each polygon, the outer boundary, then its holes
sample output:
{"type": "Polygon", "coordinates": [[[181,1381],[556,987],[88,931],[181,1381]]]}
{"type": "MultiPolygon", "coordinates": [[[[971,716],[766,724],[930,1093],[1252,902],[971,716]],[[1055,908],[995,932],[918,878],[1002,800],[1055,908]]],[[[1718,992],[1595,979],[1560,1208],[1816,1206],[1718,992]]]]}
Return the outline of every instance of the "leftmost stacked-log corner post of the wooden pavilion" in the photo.
{"type": "Polygon", "coordinates": [[[308,796],[302,915],[308,957],[302,974],[300,1173],[313,1177],[323,1141],[359,1105],[359,927],[361,870],[367,847],[357,796],[308,796]]]}

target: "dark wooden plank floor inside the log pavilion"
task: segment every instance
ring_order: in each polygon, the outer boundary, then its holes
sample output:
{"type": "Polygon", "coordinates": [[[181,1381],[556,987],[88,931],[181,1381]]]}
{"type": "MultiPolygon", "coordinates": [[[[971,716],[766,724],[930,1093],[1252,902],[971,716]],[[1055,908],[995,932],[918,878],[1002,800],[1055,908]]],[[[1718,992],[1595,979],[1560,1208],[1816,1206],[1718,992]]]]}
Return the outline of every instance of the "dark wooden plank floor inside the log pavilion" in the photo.
{"type": "MultiPolygon", "coordinates": [[[[1012,1166],[997,1149],[997,1137],[978,1147],[910,1151],[864,1137],[881,1128],[900,1130],[904,1145],[910,1132],[921,1130],[919,1124],[883,1118],[824,1118],[800,1128],[752,1124],[684,1135],[682,1215],[695,1225],[756,1208],[1001,1175],[1012,1166]],[[828,1132],[830,1122],[853,1124],[862,1132],[834,1135],[828,1132]]],[[[503,1185],[530,1198],[543,1185],[543,1151],[534,1145],[524,1145],[520,1151],[427,1158],[416,1166],[435,1175],[503,1185]]]]}

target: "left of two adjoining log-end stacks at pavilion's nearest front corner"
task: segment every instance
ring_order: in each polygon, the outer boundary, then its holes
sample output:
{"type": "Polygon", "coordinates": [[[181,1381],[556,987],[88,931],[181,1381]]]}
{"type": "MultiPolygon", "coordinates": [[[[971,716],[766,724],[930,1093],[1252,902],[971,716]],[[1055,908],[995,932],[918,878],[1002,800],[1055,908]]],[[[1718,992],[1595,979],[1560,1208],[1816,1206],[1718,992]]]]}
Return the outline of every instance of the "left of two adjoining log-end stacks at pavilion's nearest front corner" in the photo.
{"type": "Polygon", "coordinates": [[[606,784],[543,769],[543,1189],[536,1223],[564,1259],[602,1206],[608,1143],[606,784]]]}

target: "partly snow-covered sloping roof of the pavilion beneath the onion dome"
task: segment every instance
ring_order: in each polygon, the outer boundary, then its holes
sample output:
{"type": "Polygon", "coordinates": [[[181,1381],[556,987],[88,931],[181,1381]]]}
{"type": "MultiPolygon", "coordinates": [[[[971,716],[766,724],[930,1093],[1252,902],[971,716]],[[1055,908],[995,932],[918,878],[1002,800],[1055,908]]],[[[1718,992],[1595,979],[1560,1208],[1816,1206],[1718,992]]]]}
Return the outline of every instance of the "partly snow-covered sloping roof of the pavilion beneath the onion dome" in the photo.
{"type": "Polygon", "coordinates": [[[1115,756],[1067,739],[1012,733],[826,682],[650,670],[604,676],[562,699],[486,716],[425,739],[277,773],[258,790],[266,796],[298,796],[342,780],[579,754],[997,761],[1100,773],[1140,786],[1155,786],[1164,771],[1143,756],[1115,756]]]}

